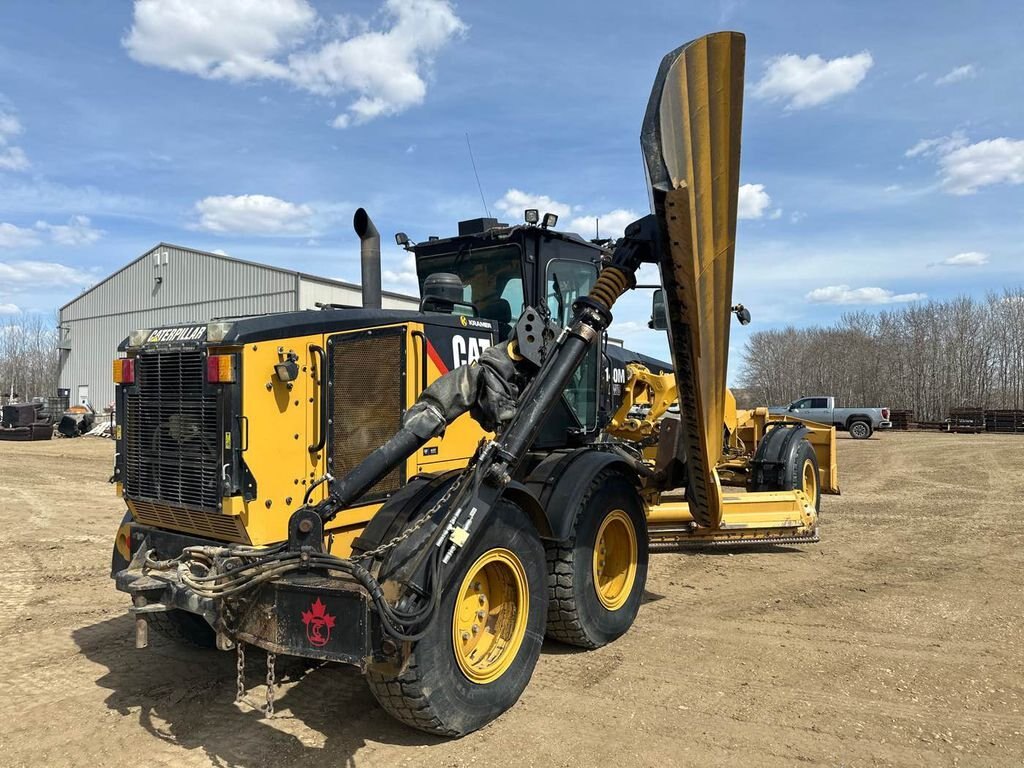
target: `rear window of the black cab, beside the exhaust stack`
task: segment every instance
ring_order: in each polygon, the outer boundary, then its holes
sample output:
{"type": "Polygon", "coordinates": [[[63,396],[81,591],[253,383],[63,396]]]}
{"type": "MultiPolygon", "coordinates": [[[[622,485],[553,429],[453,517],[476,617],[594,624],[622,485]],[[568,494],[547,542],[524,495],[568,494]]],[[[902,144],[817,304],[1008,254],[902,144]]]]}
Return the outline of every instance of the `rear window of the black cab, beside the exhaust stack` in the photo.
{"type": "MultiPolygon", "coordinates": [[[[420,292],[429,274],[451,272],[462,280],[462,300],[476,313],[511,329],[523,310],[522,266],[519,246],[470,249],[419,259],[420,292]]],[[[503,329],[507,330],[507,329],[503,329]]]]}

